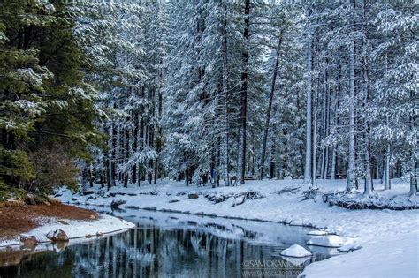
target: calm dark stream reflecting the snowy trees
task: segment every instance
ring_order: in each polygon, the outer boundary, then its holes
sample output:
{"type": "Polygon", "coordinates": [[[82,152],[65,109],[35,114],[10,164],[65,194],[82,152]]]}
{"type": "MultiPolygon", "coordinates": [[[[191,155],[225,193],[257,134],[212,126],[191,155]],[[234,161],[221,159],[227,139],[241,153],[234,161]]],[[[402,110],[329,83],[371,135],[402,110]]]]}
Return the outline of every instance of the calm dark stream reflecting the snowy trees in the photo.
{"type": "Polygon", "coordinates": [[[301,227],[141,210],[112,214],[137,223],[137,229],[44,247],[49,251],[18,252],[7,260],[11,266],[0,267],[0,277],[295,277],[309,263],[337,253],[306,246],[309,229],[301,227]],[[280,257],[292,244],[314,256],[280,257]]]}

